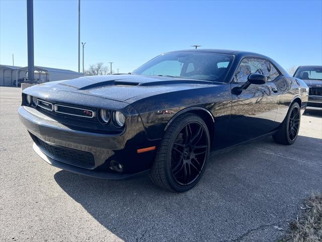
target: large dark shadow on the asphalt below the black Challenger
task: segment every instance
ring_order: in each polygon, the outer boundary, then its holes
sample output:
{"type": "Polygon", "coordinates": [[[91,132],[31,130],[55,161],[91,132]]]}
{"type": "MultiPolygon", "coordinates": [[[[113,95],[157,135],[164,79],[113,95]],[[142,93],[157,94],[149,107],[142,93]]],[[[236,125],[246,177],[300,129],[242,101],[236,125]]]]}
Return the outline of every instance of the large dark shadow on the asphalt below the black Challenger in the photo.
{"type": "Polygon", "coordinates": [[[278,236],[273,225],[286,226],[301,199],[321,191],[321,164],[313,160],[322,152],[320,141],[299,136],[294,145],[282,146],[266,138],[211,155],[199,184],[181,194],[157,188],[148,177],[109,181],[61,170],[54,178],[125,241],[227,241],[253,232],[278,236]],[[303,144],[310,148],[303,151],[303,144]],[[299,158],[297,150],[303,152],[299,158]],[[312,150],[319,154],[312,156],[312,150]]]}

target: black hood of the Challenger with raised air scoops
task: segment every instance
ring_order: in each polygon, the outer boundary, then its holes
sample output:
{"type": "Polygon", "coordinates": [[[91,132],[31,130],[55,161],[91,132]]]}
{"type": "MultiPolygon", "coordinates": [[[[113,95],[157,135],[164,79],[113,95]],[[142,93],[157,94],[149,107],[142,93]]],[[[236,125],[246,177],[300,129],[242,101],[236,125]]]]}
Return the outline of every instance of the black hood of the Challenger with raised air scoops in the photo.
{"type": "Polygon", "coordinates": [[[65,81],[47,82],[38,87],[82,93],[104,97],[116,101],[126,101],[137,96],[158,94],[185,89],[200,88],[219,83],[181,78],[143,76],[143,75],[107,75],[80,77],[65,81]]]}

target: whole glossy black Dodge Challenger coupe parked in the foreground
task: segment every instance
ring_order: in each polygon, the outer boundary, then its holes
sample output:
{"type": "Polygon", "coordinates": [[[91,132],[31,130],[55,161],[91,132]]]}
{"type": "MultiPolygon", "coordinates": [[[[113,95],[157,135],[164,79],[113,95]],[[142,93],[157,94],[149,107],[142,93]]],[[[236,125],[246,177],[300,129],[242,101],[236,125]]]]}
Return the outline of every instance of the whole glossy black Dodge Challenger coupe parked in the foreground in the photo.
{"type": "Polygon", "coordinates": [[[105,179],[149,172],[184,192],[210,152],[256,138],[296,140],[306,84],[271,58],[194,49],[161,54],[132,73],[23,90],[19,117],[49,164],[105,179]]]}

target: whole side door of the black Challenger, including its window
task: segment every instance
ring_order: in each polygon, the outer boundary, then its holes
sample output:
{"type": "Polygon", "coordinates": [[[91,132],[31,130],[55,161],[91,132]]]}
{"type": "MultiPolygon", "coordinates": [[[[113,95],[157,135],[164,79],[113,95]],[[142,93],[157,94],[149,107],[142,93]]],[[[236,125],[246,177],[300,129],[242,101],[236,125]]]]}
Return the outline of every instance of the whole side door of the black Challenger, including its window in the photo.
{"type": "Polygon", "coordinates": [[[280,92],[275,80],[272,81],[270,78],[271,69],[267,66],[266,60],[257,61],[250,58],[242,61],[236,71],[235,83],[231,83],[231,89],[243,85],[251,73],[267,76],[268,82],[263,85],[251,84],[239,95],[231,94],[230,145],[265,135],[279,126],[275,119],[279,108],[280,92]]]}

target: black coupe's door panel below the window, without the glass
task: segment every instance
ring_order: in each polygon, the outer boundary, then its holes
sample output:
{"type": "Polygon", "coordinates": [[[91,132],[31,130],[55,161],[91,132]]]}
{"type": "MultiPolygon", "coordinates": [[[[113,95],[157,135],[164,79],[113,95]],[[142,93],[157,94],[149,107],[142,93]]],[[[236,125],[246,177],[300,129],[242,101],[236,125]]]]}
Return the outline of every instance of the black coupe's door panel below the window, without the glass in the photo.
{"type": "MultiPolygon", "coordinates": [[[[240,84],[231,84],[231,89],[240,84]]],[[[251,85],[240,95],[232,94],[230,138],[233,144],[265,135],[278,127],[275,122],[279,93],[273,82],[251,85]]]]}

